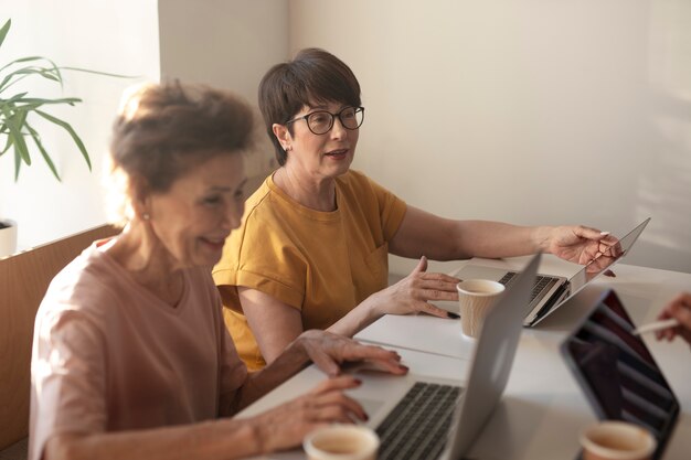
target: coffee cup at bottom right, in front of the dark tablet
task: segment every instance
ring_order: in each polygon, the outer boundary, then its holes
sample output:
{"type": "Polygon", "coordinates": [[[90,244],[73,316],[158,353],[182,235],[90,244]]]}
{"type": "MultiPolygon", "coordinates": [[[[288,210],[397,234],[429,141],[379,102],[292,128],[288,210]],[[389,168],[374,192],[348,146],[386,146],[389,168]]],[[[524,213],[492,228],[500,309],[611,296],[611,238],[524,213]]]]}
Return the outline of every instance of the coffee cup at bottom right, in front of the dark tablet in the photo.
{"type": "Polygon", "coordinates": [[[650,460],[657,440],[647,429],[626,421],[600,421],[581,432],[584,460],[650,460]]]}

